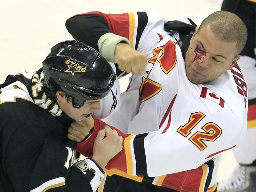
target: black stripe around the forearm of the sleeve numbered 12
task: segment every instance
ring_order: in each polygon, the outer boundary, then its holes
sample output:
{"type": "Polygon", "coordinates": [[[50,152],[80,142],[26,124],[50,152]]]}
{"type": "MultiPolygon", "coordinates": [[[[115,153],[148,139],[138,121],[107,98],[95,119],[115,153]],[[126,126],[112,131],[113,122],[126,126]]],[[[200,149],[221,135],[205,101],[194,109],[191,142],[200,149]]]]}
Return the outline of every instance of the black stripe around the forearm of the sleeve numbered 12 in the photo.
{"type": "Polygon", "coordinates": [[[148,133],[136,135],[133,140],[134,155],[136,160],[136,175],[148,176],[144,139],[148,133]]]}

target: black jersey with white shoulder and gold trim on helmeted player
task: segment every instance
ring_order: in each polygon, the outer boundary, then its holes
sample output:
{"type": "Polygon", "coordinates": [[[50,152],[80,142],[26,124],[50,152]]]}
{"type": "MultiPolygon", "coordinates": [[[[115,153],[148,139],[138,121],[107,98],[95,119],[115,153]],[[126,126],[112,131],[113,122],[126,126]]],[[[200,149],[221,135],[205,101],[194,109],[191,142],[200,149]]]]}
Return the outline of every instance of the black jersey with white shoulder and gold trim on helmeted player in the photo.
{"type": "Polygon", "coordinates": [[[103,170],[90,158],[72,165],[80,154],[67,138],[71,119],[46,96],[43,82],[40,69],[0,84],[0,190],[95,192],[103,170]]]}

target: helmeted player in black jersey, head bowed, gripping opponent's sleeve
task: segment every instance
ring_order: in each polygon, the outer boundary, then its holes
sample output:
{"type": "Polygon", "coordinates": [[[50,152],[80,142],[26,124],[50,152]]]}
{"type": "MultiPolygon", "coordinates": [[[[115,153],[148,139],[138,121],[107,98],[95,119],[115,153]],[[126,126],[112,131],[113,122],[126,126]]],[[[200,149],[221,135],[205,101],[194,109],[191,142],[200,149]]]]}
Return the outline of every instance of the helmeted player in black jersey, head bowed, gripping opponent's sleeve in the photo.
{"type": "Polygon", "coordinates": [[[37,72],[7,76],[0,84],[0,191],[95,192],[122,137],[105,127],[93,156],[78,161],[67,130],[92,119],[115,78],[99,52],[75,40],[55,45],[37,72]]]}

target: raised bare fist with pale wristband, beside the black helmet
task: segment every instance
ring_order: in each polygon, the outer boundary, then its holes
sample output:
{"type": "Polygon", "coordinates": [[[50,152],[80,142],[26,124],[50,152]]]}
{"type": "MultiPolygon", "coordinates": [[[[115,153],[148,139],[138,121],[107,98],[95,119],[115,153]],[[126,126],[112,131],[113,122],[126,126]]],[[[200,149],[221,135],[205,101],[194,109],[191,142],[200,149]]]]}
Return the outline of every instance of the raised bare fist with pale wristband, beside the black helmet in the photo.
{"type": "Polygon", "coordinates": [[[137,50],[132,49],[126,43],[119,43],[115,49],[115,60],[118,68],[126,73],[142,73],[147,65],[147,56],[137,50]]]}

